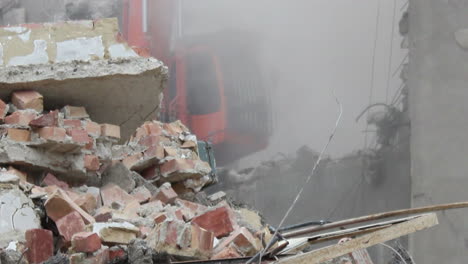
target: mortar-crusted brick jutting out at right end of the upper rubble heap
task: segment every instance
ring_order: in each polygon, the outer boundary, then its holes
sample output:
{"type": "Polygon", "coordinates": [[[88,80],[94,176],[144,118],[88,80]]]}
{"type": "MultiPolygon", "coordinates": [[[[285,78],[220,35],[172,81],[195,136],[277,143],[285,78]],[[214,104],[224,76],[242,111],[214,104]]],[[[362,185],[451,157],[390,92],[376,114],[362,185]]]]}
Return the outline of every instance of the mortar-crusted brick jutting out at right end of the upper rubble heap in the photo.
{"type": "Polygon", "coordinates": [[[207,175],[211,172],[211,167],[201,160],[177,158],[162,164],[160,170],[165,181],[178,182],[207,175]]]}

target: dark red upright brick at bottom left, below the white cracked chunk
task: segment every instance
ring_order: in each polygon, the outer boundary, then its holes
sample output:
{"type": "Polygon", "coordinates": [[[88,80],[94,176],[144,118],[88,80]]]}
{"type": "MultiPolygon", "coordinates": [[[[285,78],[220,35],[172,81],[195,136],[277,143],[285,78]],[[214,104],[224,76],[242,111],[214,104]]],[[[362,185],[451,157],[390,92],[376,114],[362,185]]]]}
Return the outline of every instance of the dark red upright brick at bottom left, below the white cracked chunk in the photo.
{"type": "Polygon", "coordinates": [[[54,255],[52,232],[46,229],[26,231],[26,258],[30,264],[41,263],[54,255]]]}

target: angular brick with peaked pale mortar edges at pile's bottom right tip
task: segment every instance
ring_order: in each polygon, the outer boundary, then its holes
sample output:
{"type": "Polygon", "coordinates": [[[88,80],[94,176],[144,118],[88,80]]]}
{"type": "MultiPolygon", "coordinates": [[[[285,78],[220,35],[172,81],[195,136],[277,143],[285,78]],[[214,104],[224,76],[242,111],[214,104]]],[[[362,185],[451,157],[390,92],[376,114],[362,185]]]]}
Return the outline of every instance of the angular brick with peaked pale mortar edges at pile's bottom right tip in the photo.
{"type": "Polygon", "coordinates": [[[260,249],[257,239],[245,227],[240,227],[232,232],[216,247],[215,252],[222,251],[224,248],[229,247],[231,243],[236,245],[237,250],[244,256],[253,255],[260,249]]]}

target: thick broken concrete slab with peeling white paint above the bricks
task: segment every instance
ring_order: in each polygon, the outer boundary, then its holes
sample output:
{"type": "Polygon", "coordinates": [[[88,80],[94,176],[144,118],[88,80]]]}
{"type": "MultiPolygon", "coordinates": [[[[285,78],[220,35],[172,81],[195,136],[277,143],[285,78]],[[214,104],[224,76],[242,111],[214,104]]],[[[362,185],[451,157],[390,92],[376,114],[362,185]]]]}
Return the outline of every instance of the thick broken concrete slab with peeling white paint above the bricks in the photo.
{"type": "Polygon", "coordinates": [[[157,117],[167,67],[122,41],[116,19],[0,28],[0,98],[36,89],[46,109],[85,106],[125,140],[157,117]]]}

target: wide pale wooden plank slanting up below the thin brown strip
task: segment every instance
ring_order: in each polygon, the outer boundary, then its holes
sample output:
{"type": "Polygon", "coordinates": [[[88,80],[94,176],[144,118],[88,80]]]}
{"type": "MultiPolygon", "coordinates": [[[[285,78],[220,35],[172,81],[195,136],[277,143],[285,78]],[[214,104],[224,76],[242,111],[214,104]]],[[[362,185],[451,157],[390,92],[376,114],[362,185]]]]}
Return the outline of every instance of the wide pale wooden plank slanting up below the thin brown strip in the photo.
{"type": "Polygon", "coordinates": [[[438,224],[435,213],[421,215],[415,219],[363,235],[343,244],[320,248],[308,253],[288,257],[277,261],[278,264],[319,264],[359,249],[383,243],[407,234],[414,233],[438,224]]]}

